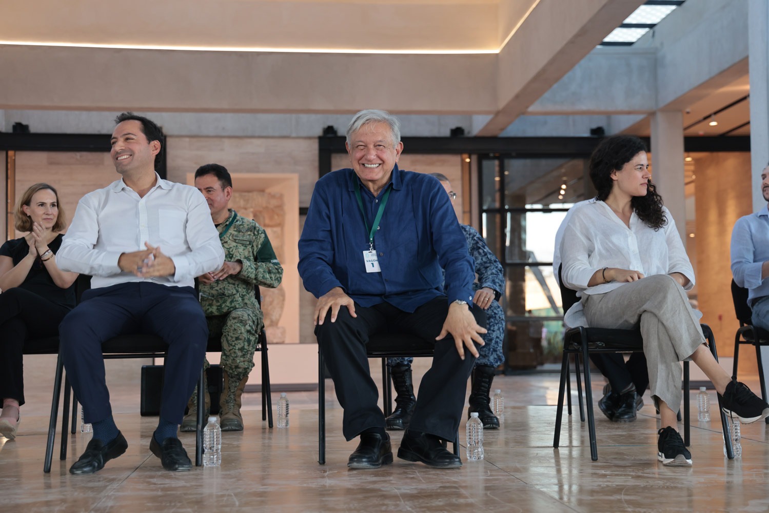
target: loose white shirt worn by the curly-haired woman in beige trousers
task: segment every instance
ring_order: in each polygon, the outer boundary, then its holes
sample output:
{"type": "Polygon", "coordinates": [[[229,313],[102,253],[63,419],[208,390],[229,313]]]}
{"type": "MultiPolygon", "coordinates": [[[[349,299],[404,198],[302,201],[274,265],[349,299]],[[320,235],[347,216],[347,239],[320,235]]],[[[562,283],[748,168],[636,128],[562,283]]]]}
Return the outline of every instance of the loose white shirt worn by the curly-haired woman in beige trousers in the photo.
{"type": "MultiPolygon", "coordinates": [[[[680,272],[689,278],[685,290],[694,287],[694,269],[675,227],[673,216],[662,208],[667,224],[654,230],[633,212],[630,228],[604,202],[582,205],[574,210],[561,246],[561,278],[564,285],[577,291],[578,297],[605,294],[627,282],[601,283],[588,287],[588,282],[604,267],[639,271],[644,276],[669,275],[680,272]]],[[[568,326],[586,326],[579,301],[564,317],[568,326]]]]}

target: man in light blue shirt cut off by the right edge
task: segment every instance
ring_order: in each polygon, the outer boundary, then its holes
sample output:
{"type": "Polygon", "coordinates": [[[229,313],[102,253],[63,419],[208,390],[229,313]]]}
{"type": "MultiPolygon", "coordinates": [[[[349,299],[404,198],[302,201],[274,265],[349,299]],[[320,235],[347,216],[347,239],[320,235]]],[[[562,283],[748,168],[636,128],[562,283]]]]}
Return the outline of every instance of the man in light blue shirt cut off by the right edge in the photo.
{"type": "MultiPolygon", "coordinates": [[[[769,165],[761,172],[761,192],[769,202],[769,165]]],[[[769,330],[769,209],[744,215],[731,232],[731,274],[747,288],[753,325],[769,330]]]]}

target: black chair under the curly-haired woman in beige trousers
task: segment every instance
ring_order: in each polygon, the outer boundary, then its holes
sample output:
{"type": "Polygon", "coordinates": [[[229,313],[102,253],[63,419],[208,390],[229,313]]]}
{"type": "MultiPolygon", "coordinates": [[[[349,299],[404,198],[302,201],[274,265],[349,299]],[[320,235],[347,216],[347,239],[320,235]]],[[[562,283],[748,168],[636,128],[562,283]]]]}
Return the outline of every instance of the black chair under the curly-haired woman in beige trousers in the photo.
{"type": "MultiPolygon", "coordinates": [[[[579,301],[576,291],[564,286],[561,278],[561,268],[558,269],[559,282],[561,284],[561,304],[564,311],[568,311],[574,303],[579,301]]],[[[715,338],[713,331],[707,325],[701,325],[702,334],[707,339],[707,346],[710,348],[716,361],[718,355],[716,352],[715,338]]],[[[644,341],[641,338],[640,329],[609,329],[609,328],[578,328],[568,329],[564,333],[564,357],[561,364],[561,382],[558,386],[558,410],[555,418],[555,433],[553,436],[553,447],[558,448],[561,439],[561,417],[564,411],[564,388],[569,381],[568,358],[569,355],[575,355],[581,358],[584,368],[584,391],[585,403],[588,410],[588,432],[590,436],[590,455],[593,461],[598,460],[598,444],[595,437],[595,418],[593,415],[593,391],[591,388],[589,358],[591,354],[596,353],[628,353],[643,352],[644,341]]],[[[577,373],[579,376],[579,371],[577,373]]],[[[689,398],[689,362],[684,361],[684,445],[691,444],[690,433],[690,398],[689,398]]],[[[579,383],[578,383],[579,387],[579,383]]],[[[580,410],[582,405],[581,388],[579,390],[580,410]]],[[[731,448],[731,436],[729,435],[729,424],[726,414],[721,409],[721,398],[718,398],[718,411],[721,414],[721,426],[724,431],[724,441],[727,446],[727,457],[734,458],[731,448]]],[[[584,419],[582,419],[584,421],[584,419]]]]}

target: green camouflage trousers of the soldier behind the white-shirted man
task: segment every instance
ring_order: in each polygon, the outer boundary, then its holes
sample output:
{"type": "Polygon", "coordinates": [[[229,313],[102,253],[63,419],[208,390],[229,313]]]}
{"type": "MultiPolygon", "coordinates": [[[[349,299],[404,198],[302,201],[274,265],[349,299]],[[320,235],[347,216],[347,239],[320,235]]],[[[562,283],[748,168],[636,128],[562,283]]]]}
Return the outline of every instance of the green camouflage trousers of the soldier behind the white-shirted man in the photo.
{"type": "MultiPolygon", "coordinates": [[[[221,337],[221,368],[235,383],[248,376],[254,368],[254,353],[258,334],[264,327],[261,311],[236,308],[227,315],[206,317],[211,337],[221,337]]],[[[208,360],[205,361],[208,368],[208,360]]]]}

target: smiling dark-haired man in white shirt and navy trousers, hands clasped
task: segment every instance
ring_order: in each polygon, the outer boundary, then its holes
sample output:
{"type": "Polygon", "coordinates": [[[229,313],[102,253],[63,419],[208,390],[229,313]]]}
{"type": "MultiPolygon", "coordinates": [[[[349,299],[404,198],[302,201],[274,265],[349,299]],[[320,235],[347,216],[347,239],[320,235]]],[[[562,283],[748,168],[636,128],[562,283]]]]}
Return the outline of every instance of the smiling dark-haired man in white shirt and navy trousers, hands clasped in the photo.
{"type": "Polygon", "coordinates": [[[201,193],[155,172],[165,144],[158,125],[131,112],[115,122],[110,155],[122,178],[80,200],[57,254],[61,268],[93,276],[59,326],[67,376],[94,429],[69,471],[92,474],[128,448],[112,418],[102,342],[131,333],[168,343],[150,450],[166,470],[186,471],[191,461],[177,429],[208,341],[194,279],[221,268],[225,254],[201,193]]]}

